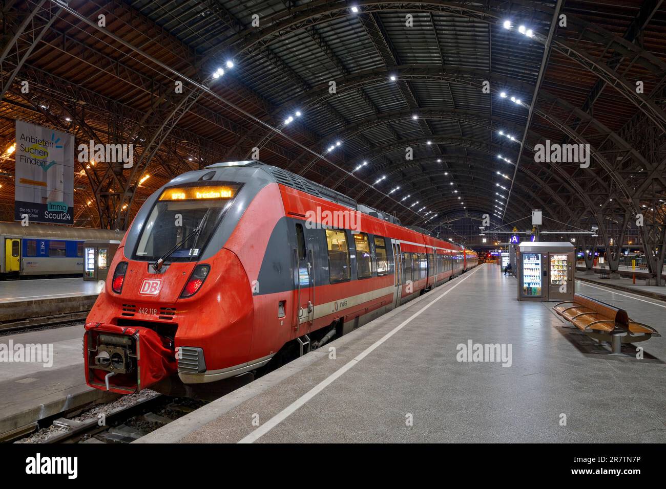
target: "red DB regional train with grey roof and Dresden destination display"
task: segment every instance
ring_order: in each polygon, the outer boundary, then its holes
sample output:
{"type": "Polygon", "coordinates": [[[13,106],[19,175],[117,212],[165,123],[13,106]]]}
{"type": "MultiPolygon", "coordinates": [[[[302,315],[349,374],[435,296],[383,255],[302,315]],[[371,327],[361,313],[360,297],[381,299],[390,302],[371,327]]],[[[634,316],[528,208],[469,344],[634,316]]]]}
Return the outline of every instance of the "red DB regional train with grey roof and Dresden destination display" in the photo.
{"type": "Polygon", "coordinates": [[[208,383],[319,347],[478,264],[425,233],[257,161],[182,174],[113,258],[85,325],[86,381],[208,383]]]}

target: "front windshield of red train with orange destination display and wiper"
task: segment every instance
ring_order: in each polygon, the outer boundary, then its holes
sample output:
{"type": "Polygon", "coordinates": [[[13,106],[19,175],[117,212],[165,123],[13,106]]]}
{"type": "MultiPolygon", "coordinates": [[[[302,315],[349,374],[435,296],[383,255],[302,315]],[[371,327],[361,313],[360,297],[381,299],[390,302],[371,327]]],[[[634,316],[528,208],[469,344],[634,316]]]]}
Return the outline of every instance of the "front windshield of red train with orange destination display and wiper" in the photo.
{"type": "Polygon", "coordinates": [[[228,185],[166,189],[143,225],[133,259],[157,261],[176,245],[166,261],[198,259],[237,193],[238,186],[228,185]]]}

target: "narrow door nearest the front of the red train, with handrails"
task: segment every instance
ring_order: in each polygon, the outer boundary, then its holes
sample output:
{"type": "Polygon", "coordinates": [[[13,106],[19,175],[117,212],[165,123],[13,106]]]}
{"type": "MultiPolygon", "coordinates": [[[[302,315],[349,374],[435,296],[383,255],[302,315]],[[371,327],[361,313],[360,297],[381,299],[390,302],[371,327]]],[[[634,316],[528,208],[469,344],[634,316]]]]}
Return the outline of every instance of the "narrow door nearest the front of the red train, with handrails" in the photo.
{"type": "Polygon", "coordinates": [[[294,307],[294,328],[297,336],[300,326],[306,329],[314,321],[314,266],[312,259],[312,237],[308,236],[302,223],[296,223],[296,307],[294,307]]]}

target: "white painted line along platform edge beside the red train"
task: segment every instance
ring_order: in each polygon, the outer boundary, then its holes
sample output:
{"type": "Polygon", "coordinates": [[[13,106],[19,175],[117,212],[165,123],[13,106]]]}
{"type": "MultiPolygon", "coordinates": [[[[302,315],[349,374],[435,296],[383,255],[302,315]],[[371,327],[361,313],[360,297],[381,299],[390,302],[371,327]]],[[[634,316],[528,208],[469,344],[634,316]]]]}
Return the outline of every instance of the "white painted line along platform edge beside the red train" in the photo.
{"type": "Polygon", "coordinates": [[[242,440],[239,440],[238,443],[253,443],[256,440],[258,440],[260,437],[264,436],[264,434],[268,433],[272,428],[277,426],[280,422],[284,421],[290,414],[295,412],[298,408],[300,408],[302,405],[310,401],[313,397],[315,397],[318,393],[326,389],[328,385],[330,385],[335,379],[340,377],[340,375],[344,374],[346,371],[354,367],[357,363],[359,363],[362,359],[364,359],[370,352],[372,352],[374,349],[379,347],[384,341],[398,333],[403,327],[405,327],[412,319],[418,317],[423,311],[428,309],[431,305],[442,299],[446,294],[448,294],[450,291],[458,287],[461,283],[466,281],[468,278],[470,278],[474,273],[479,271],[481,267],[479,266],[476,270],[472,271],[467,277],[462,279],[460,282],[456,283],[453,287],[450,287],[444,293],[442,293],[439,297],[434,299],[432,302],[428,303],[426,306],[422,307],[418,312],[412,314],[410,317],[402,321],[398,326],[396,326],[394,329],[392,329],[389,333],[386,333],[381,339],[370,345],[370,347],[366,348],[362,353],[354,357],[351,361],[346,363],[343,367],[340,367],[337,371],[326,377],[323,381],[318,383],[316,386],[312,387],[310,391],[306,392],[304,395],[296,399],[293,403],[288,405],[286,408],[278,412],[275,416],[270,418],[268,421],[266,421],[264,424],[256,428],[253,432],[248,434],[245,438],[242,438],[242,440]]]}

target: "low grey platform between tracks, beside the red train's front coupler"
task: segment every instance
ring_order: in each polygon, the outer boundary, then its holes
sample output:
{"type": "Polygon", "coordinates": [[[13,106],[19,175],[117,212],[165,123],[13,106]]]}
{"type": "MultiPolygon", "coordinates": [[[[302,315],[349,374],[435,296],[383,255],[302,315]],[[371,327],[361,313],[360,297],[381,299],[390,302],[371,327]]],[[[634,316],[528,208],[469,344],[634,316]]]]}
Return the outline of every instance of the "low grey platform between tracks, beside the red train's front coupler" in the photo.
{"type": "Polygon", "coordinates": [[[92,389],[83,369],[83,324],[0,336],[3,349],[15,345],[52,347],[42,361],[3,361],[0,369],[0,440],[30,432],[43,418],[115,399],[92,389]]]}

